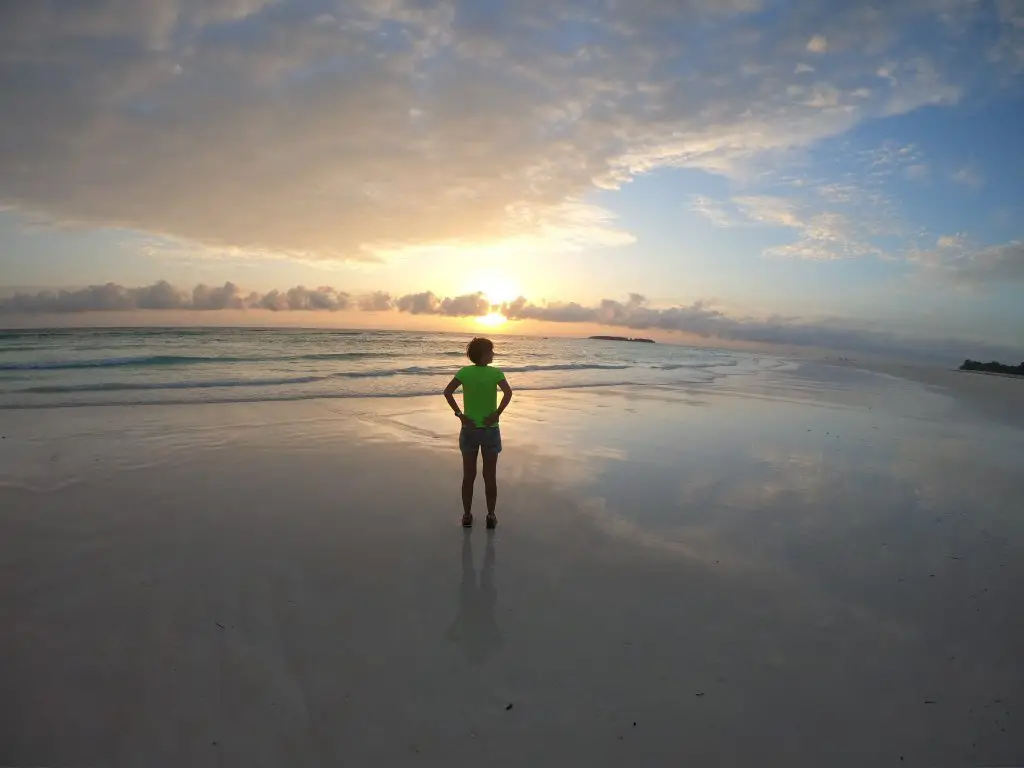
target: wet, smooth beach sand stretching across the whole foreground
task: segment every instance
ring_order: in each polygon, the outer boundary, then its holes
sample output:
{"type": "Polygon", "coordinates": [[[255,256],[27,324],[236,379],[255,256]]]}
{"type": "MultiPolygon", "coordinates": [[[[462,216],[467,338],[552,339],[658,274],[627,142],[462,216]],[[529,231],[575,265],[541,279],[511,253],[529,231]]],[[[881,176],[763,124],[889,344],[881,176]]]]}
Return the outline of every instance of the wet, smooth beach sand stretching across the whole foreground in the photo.
{"type": "Polygon", "coordinates": [[[1024,765],[1022,407],[522,393],[494,535],[439,395],[0,413],[0,765],[1024,765]]]}

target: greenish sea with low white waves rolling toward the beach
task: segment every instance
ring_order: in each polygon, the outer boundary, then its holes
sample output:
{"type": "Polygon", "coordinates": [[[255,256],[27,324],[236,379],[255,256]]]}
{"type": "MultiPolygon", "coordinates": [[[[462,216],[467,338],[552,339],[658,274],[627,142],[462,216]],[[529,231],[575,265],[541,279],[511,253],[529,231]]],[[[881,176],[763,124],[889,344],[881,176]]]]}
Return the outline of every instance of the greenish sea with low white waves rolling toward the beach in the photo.
{"type": "MultiPolygon", "coordinates": [[[[0,409],[436,394],[470,335],[167,328],[0,331],[0,409]]],[[[777,358],[722,349],[494,336],[516,389],[677,387],[777,358]]]]}

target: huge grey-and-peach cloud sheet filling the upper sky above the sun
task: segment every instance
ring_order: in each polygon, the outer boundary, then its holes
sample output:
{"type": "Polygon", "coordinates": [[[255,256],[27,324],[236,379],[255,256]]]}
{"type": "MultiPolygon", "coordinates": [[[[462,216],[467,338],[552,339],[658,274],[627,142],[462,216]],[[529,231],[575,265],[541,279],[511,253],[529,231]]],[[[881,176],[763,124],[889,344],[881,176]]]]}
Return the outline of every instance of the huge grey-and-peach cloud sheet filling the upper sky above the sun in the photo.
{"type": "Polygon", "coordinates": [[[925,0],[3,3],[0,205],[302,259],[614,245],[597,189],[741,176],[1016,66],[969,55],[1016,17],[977,5],[954,35],[925,0]]]}

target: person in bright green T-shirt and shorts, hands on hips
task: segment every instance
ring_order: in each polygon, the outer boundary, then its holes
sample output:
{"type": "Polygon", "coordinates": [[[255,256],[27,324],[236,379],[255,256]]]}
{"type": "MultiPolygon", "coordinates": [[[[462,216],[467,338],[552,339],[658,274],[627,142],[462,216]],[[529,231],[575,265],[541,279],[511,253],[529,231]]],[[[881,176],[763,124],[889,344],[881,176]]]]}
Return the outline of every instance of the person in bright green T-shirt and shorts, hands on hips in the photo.
{"type": "Polygon", "coordinates": [[[472,366],[466,366],[455,375],[444,388],[444,399],[462,422],[459,449],[462,451],[462,525],[473,525],[473,483],[476,481],[476,455],[483,455],[483,488],[487,499],[487,527],[498,525],[495,507],[498,504],[498,455],[502,452],[502,433],[498,420],[512,400],[512,387],[505,374],[490,364],[495,359],[495,345],[490,339],[476,338],[466,345],[466,356],[472,366]],[[456,390],[462,387],[464,408],[455,399],[456,390]],[[498,403],[498,390],[502,401],[498,403]]]}

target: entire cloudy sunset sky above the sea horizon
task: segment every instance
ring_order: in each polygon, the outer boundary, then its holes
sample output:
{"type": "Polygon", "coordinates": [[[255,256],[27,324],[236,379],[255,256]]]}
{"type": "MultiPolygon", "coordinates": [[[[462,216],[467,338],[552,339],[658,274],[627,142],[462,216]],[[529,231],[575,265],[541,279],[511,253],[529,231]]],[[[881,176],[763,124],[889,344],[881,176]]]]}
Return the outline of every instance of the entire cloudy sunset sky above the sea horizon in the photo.
{"type": "Polygon", "coordinates": [[[1024,357],[1024,0],[4,3],[0,113],[7,327],[1024,357]]]}

